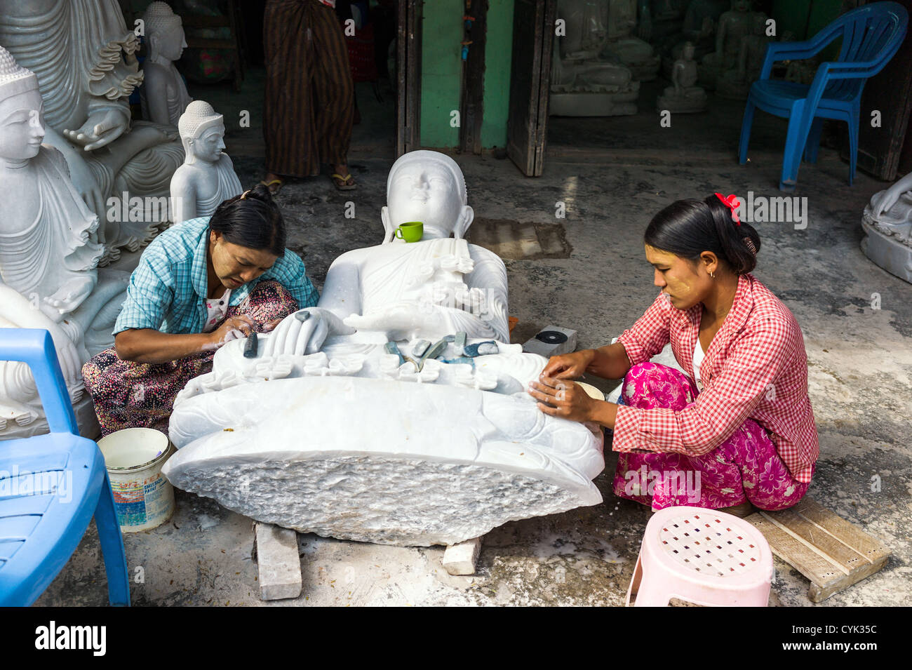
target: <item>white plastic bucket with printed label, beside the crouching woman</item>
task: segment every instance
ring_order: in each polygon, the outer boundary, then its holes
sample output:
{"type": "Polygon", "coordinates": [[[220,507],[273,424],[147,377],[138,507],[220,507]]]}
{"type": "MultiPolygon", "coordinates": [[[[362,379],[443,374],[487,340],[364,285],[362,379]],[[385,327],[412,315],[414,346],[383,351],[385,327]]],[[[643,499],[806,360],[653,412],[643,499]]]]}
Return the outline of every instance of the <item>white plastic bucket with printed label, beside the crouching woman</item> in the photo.
{"type": "Polygon", "coordinates": [[[126,428],[98,440],[122,532],[149,531],[171,519],[174,488],[161,466],[174,451],[164,433],[126,428]]]}

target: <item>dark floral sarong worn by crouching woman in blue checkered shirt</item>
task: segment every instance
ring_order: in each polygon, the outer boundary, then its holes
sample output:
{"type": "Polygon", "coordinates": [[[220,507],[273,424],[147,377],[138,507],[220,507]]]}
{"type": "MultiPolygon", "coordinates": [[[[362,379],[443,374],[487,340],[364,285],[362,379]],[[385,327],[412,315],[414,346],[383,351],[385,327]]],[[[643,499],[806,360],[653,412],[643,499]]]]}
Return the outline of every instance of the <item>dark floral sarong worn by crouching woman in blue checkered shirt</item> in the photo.
{"type": "MultiPolygon", "coordinates": [[[[297,308],[282,284],[260,282],[241,304],[228,307],[224,319],[255,312],[259,323],[254,330],[262,332],[260,324],[284,318],[297,308]]],[[[111,347],[91,358],[82,366],[82,376],[95,403],[101,435],[123,428],[155,428],[167,435],[174,397],[193,377],[212,372],[213,356],[214,350],[168,363],[136,363],[120,360],[111,347]]]]}

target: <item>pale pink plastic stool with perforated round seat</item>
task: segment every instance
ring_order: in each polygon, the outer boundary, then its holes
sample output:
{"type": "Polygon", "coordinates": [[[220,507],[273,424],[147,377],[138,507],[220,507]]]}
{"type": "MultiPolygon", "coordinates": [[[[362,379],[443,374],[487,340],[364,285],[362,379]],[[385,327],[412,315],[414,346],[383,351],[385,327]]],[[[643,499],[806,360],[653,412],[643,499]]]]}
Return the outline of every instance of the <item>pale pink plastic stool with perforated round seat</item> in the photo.
{"type": "Polygon", "coordinates": [[[667,507],[643,535],[627,604],[664,607],[671,598],[701,605],[765,607],[772,551],[747,521],[701,507],[667,507]]]}

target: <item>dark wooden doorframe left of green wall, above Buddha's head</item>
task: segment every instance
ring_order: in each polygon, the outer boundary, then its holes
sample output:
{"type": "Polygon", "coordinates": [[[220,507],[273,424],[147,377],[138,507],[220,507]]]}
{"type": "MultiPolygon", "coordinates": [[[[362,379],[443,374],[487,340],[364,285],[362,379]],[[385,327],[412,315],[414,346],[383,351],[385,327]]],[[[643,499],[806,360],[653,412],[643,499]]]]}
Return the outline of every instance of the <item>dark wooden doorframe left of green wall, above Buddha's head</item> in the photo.
{"type": "Polygon", "coordinates": [[[399,0],[396,22],[396,157],[421,143],[421,10],[424,0],[399,0]]]}

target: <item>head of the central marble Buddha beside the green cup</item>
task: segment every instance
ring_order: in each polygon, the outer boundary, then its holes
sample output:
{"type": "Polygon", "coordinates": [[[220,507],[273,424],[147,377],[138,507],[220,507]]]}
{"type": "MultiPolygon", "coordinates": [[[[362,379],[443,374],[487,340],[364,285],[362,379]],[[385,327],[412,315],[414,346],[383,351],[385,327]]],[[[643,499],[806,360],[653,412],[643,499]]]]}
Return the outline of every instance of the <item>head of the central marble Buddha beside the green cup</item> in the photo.
{"type": "Polygon", "coordinates": [[[438,151],[409,151],[389,169],[387,206],[380,211],[386,230],[384,242],[393,239],[401,223],[420,221],[424,239],[460,240],[472,225],[465,178],[455,160],[438,151]]]}

